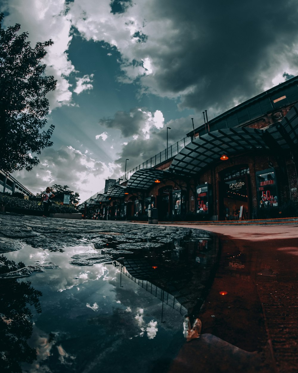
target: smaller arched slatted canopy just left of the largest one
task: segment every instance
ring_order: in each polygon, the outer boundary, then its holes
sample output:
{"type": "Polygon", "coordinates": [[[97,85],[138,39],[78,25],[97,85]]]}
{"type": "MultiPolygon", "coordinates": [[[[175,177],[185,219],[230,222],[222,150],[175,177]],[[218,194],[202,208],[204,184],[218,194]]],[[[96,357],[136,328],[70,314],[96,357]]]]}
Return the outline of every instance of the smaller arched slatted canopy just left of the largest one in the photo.
{"type": "Polygon", "coordinates": [[[154,168],[137,170],[133,175],[131,175],[127,182],[127,187],[131,189],[147,190],[155,180],[166,179],[169,175],[170,173],[168,171],[157,170],[154,168]]]}

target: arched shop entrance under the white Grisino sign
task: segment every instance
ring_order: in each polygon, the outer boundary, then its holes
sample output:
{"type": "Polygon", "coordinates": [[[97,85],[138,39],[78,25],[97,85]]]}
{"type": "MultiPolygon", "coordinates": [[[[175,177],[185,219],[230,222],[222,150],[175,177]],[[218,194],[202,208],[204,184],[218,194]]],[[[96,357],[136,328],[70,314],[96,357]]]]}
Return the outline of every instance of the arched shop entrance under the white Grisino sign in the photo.
{"type": "Polygon", "coordinates": [[[219,183],[219,220],[250,219],[250,182],[248,167],[222,175],[219,183]]]}

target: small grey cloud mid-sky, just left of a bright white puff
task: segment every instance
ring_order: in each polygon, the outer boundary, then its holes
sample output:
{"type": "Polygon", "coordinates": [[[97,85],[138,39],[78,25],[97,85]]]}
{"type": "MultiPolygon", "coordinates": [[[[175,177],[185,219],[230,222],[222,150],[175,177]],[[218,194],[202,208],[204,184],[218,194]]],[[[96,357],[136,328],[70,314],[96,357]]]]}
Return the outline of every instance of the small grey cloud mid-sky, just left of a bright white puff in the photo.
{"type": "Polygon", "coordinates": [[[120,129],[124,137],[137,135],[148,119],[148,113],[140,108],[131,109],[130,112],[117,112],[113,119],[100,119],[99,124],[107,128],[120,129]]]}

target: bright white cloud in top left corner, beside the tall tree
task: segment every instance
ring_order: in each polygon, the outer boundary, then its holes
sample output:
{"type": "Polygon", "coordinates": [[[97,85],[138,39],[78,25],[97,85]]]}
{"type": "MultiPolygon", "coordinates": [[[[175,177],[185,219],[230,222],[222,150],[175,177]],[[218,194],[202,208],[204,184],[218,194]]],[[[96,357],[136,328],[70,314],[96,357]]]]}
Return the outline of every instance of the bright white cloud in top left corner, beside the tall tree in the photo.
{"type": "Polygon", "coordinates": [[[65,14],[64,0],[9,0],[4,1],[3,10],[9,12],[4,17],[4,26],[20,23],[21,32],[28,31],[31,46],[49,39],[54,44],[47,48],[48,54],[44,58],[47,65],[46,74],[54,75],[57,88],[48,94],[50,109],[70,104],[72,100],[71,85],[67,77],[75,72],[75,67],[68,59],[67,49],[72,40],[70,28],[72,22],[65,14]]]}

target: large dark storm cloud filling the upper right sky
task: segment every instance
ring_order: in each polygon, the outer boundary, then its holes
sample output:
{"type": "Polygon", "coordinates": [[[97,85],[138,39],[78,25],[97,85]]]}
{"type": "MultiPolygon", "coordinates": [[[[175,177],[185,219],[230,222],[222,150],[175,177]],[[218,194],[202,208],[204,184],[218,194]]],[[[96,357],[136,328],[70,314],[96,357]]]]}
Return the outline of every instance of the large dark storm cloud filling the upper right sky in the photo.
{"type": "Polygon", "coordinates": [[[296,1],[156,0],[154,8],[177,31],[167,53],[151,55],[155,84],[164,93],[186,91],[182,107],[228,109],[282,75],[283,59],[297,69],[296,1]]]}

